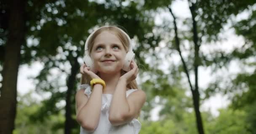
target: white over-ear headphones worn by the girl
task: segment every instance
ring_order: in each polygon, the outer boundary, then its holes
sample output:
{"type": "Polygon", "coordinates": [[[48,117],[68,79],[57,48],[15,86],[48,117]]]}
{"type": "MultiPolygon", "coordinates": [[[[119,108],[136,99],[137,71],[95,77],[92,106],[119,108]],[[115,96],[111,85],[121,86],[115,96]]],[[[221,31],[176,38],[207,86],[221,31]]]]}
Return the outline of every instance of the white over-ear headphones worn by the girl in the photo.
{"type": "MultiPolygon", "coordinates": [[[[85,54],[84,54],[84,57],[83,57],[83,61],[85,62],[85,65],[87,67],[90,67],[90,70],[96,72],[95,68],[94,68],[94,64],[93,64],[93,60],[91,59],[90,55],[89,55],[89,50],[88,50],[88,42],[89,40],[91,39],[91,36],[96,32],[98,31],[99,29],[101,28],[104,28],[104,27],[111,27],[111,26],[102,26],[100,28],[98,28],[97,30],[93,31],[89,36],[88,38],[86,39],[85,41],[85,54]]],[[[129,71],[130,69],[130,64],[131,64],[131,61],[134,59],[135,57],[135,54],[133,53],[133,48],[132,48],[132,44],[131,44],[131,38],[128,36],[127,33],[125,33],[125,31],[123,31],[122,29],[118,28],[118,27],[115,27],[117,29],[119,29],[122,33],[125,34],[125,36],[127,37],[128,41],[129,41],[129,51],[126,53],[126,56],[125,56],[125,64],[123,66],[123,70],[125,71],[129,71]]]]}

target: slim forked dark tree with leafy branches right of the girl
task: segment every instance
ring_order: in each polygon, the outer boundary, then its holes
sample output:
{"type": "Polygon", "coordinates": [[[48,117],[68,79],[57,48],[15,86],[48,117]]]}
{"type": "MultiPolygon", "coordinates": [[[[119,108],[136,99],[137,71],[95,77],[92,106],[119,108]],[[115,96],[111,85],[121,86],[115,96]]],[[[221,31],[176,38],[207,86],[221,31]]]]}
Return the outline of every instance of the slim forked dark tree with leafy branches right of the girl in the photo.
{"type": "MultiPolygon", "coordinates": [[[[171,2],[170,2],[171,3],[171,2]]],[[[169,36],[169,40],[165,41],[170,49],[175,49],[178,51],[181,58],[181,63],[185,73],[188,85],[192,93],[194,109],[197,121],[197,130],[199,134],[204,134],[203,122],[200,115],[200,88],[198,87],[198,68],[200,66],[215,66],[215,70],[227,63],[230,59],[224,56],[224,52],[214,52],[216,55],[212,56],[210,54],[205,55],[200,51],[200,46],[207,44],[210,41],[217,41],[221,39],[218,36],[221,28],[227,23],[227,19],[230,15],[238,14],[248,5],[253,5],[255,2],[219,2],[218,0],[188,0],[189,10],[191,13],[191,18],[183,21],[183,24],[187,25],[187,29],[179,30],[177,27],[176,16],[173,14],[171,5],[167,5],[169,12],[173,16],[173,25],[168,26],[168,20],[165,20],[164,28],[173,28],[173,34],[170,35],[171,30],[167,31],[166,35],[161,33],[163,39],[169,36]],[[214,21],[213,21],[214,20],[214,21]],[[190,33],[190,34],[189,34],[190,33]],[[174,41],[172,40],[174,39],[174,41]],[[182,47],[184,49],[185,41],[188,41],[188,56],[187,59],[182,56],[182,47]],[[173,45],[174,44],[174,45],[173,45]],[[193,45],[192,45],[193,44],[193,45]],[[219,54],[221,53],[221,54],[219,54]],[[194,77],[194,78],[192,78],[194,77]],[[192,83],[195,80],[195,83],[192,83]]],[[[166,10],[166,8],[164,8],[166,10]]],[[[169,24],[170,25],[170,24],[169,24]]],[[[182,29],[182,28],[181,28],[182,29]]],[[[170,54],[170,53],[169,53],[170,54]]],[[[216,93],[216,92],[215,92],[216,93]]]]}

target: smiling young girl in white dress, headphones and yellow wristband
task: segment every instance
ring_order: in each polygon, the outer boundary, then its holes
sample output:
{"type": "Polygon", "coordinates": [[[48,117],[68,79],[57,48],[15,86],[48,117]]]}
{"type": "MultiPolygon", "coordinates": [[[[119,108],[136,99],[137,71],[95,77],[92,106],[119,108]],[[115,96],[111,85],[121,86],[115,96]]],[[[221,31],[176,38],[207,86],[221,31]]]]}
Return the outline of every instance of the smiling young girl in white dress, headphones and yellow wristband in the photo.
{"type": "Polygon", "coordinates": [[[131,39],[120,28],[103,26],[88,37],[76,94],[80,134],[139,133],[146,94],[138,90],[133,57],[131,39]]]}

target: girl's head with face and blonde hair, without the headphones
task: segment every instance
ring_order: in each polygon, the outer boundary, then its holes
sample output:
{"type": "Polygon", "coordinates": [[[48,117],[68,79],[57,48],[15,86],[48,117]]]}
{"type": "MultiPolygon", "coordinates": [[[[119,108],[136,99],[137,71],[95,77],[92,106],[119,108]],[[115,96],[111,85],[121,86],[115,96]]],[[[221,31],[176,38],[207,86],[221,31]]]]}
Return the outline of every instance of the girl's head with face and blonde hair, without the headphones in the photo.
{"type": "MultiPolygon", "coordinates": [[[[123,30],[116,26],[103,26],[88,37],[85,44],[85,55],[90,56],[93,70],[98,72],[98,75],[101,73],[123,75],[125,73],[123,67],[127,63],[125,58],[132,52],[130,45],[131,39],[123,30]],[[127,54],[127,52],[129,53],[127,54]]],[[[87,61],[88,59],[85,59],[85,64],[87,61]]],[[[86,83],[91,79],[87,78],[87,80],[86,83]]],[[[128,84],[128,88],[138,88],[134,83],[136,82],[128,84]]]]}

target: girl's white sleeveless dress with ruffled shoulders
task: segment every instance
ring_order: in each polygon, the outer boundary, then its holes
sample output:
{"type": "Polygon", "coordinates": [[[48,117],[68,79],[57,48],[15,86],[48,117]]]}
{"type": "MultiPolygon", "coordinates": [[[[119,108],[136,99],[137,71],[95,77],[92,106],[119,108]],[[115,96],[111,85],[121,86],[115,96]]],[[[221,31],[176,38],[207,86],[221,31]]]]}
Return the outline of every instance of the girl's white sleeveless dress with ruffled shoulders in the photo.
{"type": "MultiPolygon", "coordinates": [[[[81,85],[80,89],[85,89],[85,94],[88,98],[91,95],[91,86],[88,84],[81,85]]],[[[126,91],[126,97],[129,94],[136,91],[137,89],[130,89],[126,91]]],[[[139,134],[141,129],[141,123],[137,119],[133,119],[130,122],[120,125],[120,126],[113,126],[109,122],[109,108],[112,99],[112,94],[102,94],[102,101],[101,101],[101,115],[99,119],[99,124],[95,131],[89,133],[82,127],[80,127],[80,134],[139,134]]]]}

